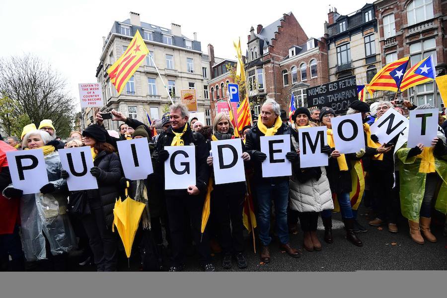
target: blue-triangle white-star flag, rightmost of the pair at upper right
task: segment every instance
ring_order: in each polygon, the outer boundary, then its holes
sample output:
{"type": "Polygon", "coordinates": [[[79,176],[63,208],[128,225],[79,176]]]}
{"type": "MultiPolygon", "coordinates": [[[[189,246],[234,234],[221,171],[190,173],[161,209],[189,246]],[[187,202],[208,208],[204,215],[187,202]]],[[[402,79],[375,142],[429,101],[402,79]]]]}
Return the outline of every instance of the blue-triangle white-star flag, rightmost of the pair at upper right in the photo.
{"type": "Polygon", "coordinates": [[[435,77],[436,70],[433,57],[429,56],[421,62],[416,63],[403,75],[400,90],[403,91],[413,86],[432,81],[435,77]]]}

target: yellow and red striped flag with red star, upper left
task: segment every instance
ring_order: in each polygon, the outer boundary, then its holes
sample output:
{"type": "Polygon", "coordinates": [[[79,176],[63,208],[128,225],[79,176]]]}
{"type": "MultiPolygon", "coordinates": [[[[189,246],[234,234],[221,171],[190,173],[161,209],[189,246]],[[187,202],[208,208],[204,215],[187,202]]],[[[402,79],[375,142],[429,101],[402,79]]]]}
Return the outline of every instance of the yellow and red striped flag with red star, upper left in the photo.
{"type": "Polygon", "coordinates": [[[107,70],[110,82],[115,86],[118,95],[123,91],[127,81],[135,74],[148,53],[149,50],[137,30],[124,54],[107,70]]]}

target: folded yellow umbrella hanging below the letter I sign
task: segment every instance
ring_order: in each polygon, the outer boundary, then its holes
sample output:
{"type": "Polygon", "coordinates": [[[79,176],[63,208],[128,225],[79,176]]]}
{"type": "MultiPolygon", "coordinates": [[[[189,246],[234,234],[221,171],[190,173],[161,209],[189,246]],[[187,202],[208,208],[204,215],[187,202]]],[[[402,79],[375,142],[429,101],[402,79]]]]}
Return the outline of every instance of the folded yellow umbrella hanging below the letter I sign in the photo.
{"type": "Polygon", "coordinates": [[[112,231],[115,231],[116,225],[128,258],[130,258],[132,244],[145,207],[144,203],[137,202],[129,197],[124,201],[119,199],[115,203],[112,231]]]}

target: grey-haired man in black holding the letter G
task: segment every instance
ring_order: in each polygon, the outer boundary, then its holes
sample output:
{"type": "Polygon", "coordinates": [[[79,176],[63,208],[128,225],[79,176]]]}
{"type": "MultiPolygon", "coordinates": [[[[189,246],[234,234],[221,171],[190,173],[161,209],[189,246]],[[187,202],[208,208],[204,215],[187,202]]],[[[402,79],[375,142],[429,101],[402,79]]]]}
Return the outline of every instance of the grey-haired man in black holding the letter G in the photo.
{"type": "Polygon", "coordinates": [[[164,162],[169,158],[165,146],[195,146],[196,147],[196,185],[187,189],[165,190],[166,209],[169,218],[169,228],[172,242],[172,264],[169,271],[181,271],[186,258],[186,239],[192,227],[194,241],[200,255],[200,264],[205,271],[216,271],[210,251],[210,241],[205,231],[201,235],[202,210],[208,190],[210,169],[207,165],[208,146],[205,138],[193,132],[188,123],[188,108],[181,103],[169,107],[169,122],[171,126],[158,137],[157,171],[164,177],[164,162]],[[185,224],[187,219],[191,224],[185,224]]]}

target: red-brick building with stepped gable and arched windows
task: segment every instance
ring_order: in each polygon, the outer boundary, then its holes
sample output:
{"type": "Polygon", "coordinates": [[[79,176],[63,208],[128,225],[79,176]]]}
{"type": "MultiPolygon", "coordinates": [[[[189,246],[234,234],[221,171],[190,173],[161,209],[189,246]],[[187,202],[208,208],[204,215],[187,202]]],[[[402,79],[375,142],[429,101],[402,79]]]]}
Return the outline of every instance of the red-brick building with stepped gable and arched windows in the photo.
{"type": "Polygon", "coordinates": [[[288,110],[292,92],[307,106],[305,89],[328,81],[325,38],[308,38],[292,12],[256,32],[250,29],[245,74],[255,115],[267,98],[288,110]]]}

